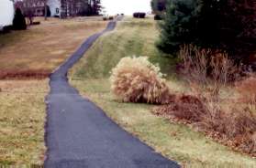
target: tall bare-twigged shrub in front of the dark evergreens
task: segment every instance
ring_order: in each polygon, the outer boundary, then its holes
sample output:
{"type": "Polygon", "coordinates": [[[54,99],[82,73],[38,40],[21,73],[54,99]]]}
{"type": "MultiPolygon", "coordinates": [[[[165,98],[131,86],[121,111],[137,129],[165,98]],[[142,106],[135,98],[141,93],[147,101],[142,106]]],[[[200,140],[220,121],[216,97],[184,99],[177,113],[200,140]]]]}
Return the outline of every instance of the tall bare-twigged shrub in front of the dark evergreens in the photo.
{"type": "Polygon", "coordinates": [[[239,79],[241,68],[228,59],[226,53],[184,45],[179,58],[183,63],[184,77],[197,96],[217,101],[221,87],[239,79]]]}

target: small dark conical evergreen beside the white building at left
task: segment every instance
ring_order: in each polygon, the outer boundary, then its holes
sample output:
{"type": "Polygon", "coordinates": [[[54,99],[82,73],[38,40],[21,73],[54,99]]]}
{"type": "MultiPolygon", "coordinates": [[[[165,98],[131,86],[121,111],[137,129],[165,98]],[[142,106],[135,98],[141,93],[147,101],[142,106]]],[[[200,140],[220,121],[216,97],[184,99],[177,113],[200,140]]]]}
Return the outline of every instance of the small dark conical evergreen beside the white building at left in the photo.
{"type": "Polygon", "coordinates": [[[13,20],[13,28],[15,30],[27,29],[25,17],[22,15],[21,10],[19,8],[16,9],[16,13],[13,20]]]}

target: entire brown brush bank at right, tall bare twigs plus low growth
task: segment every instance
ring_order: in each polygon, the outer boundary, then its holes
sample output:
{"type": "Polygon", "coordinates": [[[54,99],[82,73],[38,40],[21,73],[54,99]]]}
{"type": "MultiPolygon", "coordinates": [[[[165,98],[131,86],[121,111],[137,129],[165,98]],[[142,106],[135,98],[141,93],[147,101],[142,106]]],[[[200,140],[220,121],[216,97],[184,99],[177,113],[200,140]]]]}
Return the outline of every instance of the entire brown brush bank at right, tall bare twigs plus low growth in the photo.
{"type": "Polygon", "coordinates": [[[220,96],[221,89],[233,88],[232,82],[239,79],[241,74],[241,68],[226,54],[185,46],[181,49],[180,58],[193,96],[176,96],[172,103],[156,108],[154,112],[192,124],[218,141],[256,156],[256,115],[251,110],[251,106],[256,105],[253,100],[255,79],[250,77],[239,82],[238,90],[242,98],[250,98],[250,101],[238,106],[238,100],[230,102],[220,96]]]}

